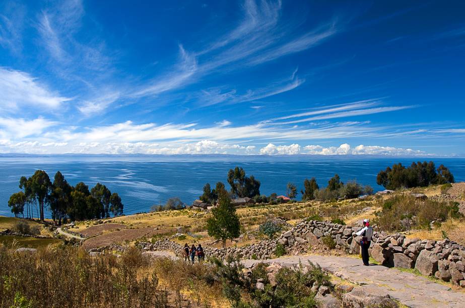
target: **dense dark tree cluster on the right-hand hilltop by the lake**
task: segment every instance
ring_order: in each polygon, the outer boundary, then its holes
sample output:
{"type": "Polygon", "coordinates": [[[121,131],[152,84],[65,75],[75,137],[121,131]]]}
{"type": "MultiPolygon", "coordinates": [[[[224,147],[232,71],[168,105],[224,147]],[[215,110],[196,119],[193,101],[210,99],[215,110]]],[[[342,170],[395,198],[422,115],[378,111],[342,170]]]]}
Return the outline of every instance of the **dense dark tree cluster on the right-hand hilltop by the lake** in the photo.
{"type": "Polygon", "coordinates": [[[453,183],[454,176],[444,165],[437,169],[434,162],[413,162],[409,167],[401,163],[379,171],[376,182],[387,189],[401,187],[425,187],[434,184],[453,183]]]}

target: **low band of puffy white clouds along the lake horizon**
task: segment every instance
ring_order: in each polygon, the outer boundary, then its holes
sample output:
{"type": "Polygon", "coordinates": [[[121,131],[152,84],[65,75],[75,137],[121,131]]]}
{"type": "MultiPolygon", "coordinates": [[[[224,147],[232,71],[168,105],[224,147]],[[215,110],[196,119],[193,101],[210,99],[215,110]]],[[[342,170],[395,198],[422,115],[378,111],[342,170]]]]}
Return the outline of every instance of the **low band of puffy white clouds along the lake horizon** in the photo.
{"type": "Polygon", "coordinates": [[[150,142],[11,142],[0,140],[0,153],[26,154],[236,154],[236,155],[385,155],[385,156],[431,156],[420,150],[404,149],[388,146],[351,147],[344,143],[338,146],[323,147],[320,145],[299,144],[268,145],[257,149],[254,145],[221,143],[213,140],[202,140],[185,144],[150,143],[150,142]]]}

